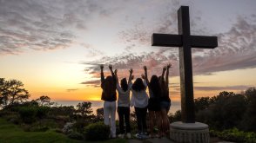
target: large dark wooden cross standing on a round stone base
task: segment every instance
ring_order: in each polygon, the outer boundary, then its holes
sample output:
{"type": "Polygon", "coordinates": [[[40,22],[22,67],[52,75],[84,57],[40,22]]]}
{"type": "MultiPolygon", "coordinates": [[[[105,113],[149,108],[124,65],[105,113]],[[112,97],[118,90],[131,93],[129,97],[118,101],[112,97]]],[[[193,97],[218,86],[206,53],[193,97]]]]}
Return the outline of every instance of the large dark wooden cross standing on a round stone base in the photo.
{"type": "Polygon", "coordinates": [[[191,36],[188,6],[178,10],[179,35],[153,34],[152,46],[179,47],[179,73],[182,122],[194,123],[195,110],[192,81],[192,48],[213,49],[217,36],[191,36]]]}

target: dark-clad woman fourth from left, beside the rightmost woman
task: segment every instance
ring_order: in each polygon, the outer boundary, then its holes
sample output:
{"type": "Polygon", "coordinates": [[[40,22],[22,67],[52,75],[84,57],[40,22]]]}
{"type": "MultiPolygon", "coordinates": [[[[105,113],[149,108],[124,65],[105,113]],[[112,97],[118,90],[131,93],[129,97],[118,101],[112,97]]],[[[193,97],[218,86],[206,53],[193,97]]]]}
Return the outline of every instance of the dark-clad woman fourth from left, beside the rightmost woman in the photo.
{"type": "MultiPolygon", "coordinates": [[[[147,68],[144,66],[145,70],[145,76],[143,75],[143,78],[145,78],[145,81],[149,88],[149,103],[148,103],[148,110],[149,110],[149,118],[150,118],[150,137],[154,137],[154,127],[157,125],[158,131],[160,131],[161,128],[161,117],[160,114],[160,96],[161,96],[161,87],[159,84],[158,76],[152,75],[151,81],[148,80],[147,75],[147,68]],[[156,125],[154,124],[156,123],[156,125]]],[[[156,134],[156,137],[159,137],[160,133],[158,132],[156,134]]]]}

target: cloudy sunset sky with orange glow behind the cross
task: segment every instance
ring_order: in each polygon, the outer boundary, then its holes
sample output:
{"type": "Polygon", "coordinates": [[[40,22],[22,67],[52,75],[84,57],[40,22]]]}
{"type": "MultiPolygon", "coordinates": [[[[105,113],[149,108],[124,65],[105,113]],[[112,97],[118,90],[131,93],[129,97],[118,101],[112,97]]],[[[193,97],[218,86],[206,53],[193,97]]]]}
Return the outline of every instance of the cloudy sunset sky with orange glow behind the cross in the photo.
{"type": "Polygon", "coordinates": [[[172,63],[170,97],[179,101],[178,48],[152,47],[152,33],[178,34],[189,6],[191,33],[218,36],[216,49],[192,49],[194,96],[256,87],[255,0],[0,0],[0,77],[23,81],[30,99],[98,101],[99,64],[121,77],[172,63]]]}

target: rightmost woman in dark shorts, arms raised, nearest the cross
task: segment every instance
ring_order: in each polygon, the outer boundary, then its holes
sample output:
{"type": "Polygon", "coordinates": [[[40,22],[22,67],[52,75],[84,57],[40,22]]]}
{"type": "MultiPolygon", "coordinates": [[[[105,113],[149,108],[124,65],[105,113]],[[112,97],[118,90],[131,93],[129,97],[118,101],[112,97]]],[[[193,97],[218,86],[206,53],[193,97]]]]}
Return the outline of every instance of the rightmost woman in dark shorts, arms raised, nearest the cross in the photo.
{"type": "Polygon", "coordinates": [[[162,119],[162,133],[166,136],[169,135],[170,122],[168,119],[168,112],[171,107],[171,99],[169,97],[169,68],[172,67],[172,64],[168,64],[163,68],[162,75],[160,76],[160,86],[162,89],[162,94],[160,96],[160,107],[161,107],[161,119],[162,119]],[[166,71],[166,75],[165,75],[166,71]],[[164,78],[165,77],[165,78],[164,78]]]}

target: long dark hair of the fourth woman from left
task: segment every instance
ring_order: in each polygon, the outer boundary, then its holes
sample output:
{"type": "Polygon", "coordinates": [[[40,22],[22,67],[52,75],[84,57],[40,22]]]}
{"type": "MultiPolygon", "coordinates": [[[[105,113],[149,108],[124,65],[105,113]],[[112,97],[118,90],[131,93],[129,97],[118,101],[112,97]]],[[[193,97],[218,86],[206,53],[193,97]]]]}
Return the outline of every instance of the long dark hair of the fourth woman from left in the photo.
{"type": "Polygon", "coordinates": [[[152,79],[149,82],[149,88],[152,90],[153,94],[155,97],[159,97],[162,94],[162,89],[160,87],[160,83],[158,80],[158,76],[157,75],[152,75],[152,79]]]}

